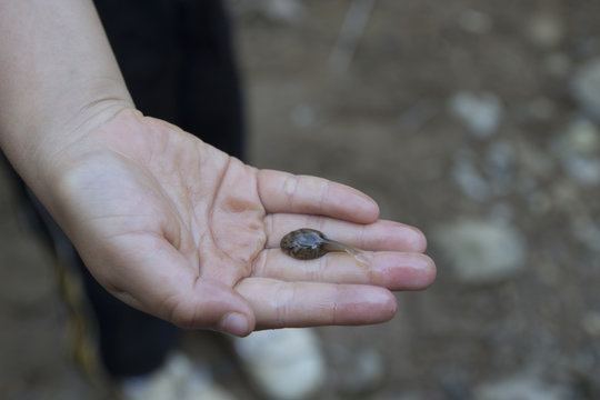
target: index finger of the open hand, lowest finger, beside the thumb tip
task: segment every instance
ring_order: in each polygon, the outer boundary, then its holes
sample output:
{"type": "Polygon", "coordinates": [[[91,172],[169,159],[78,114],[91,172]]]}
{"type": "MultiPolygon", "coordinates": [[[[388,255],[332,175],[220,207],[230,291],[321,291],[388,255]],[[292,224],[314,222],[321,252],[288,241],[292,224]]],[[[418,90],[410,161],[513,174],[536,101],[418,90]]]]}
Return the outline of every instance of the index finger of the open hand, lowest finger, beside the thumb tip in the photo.
{"type": "Polygon", "coordinates": [[[236,289],[254,310],[257,329],[379,323],[397,310],[390,291],[369,286],[249,278],[236,289]]]}

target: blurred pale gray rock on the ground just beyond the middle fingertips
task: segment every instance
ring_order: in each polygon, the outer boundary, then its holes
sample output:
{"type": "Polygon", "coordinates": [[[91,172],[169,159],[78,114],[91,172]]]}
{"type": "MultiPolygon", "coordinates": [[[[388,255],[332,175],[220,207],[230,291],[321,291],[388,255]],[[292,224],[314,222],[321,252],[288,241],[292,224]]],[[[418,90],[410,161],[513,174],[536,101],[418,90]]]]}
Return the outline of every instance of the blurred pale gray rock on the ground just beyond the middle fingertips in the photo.
{"type": "Polygon", "coordinates": [[[432,243],[451,261],[457,279],[470,284],[503,281],[524,267],[526,243],[517,228],[484,220],[461,220],[433,230],[432,243]]]}

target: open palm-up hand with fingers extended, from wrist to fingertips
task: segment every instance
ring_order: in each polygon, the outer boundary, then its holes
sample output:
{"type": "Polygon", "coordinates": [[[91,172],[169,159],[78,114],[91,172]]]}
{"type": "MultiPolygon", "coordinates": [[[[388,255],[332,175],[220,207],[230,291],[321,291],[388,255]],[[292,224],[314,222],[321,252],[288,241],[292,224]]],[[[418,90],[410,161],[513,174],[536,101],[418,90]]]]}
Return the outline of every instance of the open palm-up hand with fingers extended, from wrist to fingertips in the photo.
{"type": "Polygon", "coordinates": [[[253,329],[363,324],[396,312],[390,290],[434,278],[420,231],[378,221],[339,183],[257,170],[177,127],[126,109],[62,149],[51,210],[96,279],[173,323],[253,329]],[[287,232],[316,228],[372,251],[298,261],[287,232]]]}

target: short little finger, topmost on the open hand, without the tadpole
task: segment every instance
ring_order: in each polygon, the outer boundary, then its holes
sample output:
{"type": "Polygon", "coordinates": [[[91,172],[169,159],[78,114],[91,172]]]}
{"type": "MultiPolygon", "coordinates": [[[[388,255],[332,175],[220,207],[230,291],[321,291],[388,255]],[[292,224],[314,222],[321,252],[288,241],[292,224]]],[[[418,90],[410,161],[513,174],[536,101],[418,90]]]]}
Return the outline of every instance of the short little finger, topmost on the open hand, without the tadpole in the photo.
{"type": "Polygon", "coordinates": [[[267,213],[318,214],[357,223],[374,222],[379,216],[371,198],[322,178],[261,170],[258,190],[267,213]]]}

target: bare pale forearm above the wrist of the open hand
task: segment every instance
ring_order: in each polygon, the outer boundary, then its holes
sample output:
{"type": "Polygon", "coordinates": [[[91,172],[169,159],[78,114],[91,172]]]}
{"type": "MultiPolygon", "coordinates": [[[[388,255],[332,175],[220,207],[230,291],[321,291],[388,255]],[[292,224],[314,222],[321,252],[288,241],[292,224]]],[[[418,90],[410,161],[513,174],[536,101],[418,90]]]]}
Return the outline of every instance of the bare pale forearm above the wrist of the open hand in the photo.
{"type": "Polygon", "coordinates": [[[40,198],[61,149],[126,107],[91,1],[0,1],[0,146],[40,198]]]}

